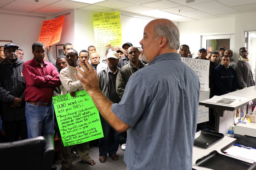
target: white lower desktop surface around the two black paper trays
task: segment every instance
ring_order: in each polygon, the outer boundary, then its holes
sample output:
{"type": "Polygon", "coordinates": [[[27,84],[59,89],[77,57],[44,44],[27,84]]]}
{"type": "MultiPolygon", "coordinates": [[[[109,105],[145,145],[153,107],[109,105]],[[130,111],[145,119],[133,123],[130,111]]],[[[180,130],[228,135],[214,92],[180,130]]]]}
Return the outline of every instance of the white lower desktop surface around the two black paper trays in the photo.
{"type": "MultiPolygon", "coordinates": [[[[195,133],[195,138],[197,138],[200,135],[200,133],[201,133],[201,131],[195,133]]],[[[218,153],[220,153],[222,155],[226,155],[226,156],[238,159],[237,157],[227,155],[227,154],[224,154],[224,153],[221,152],[222,148],[227,147],[227,146],[231,146],[235,142],[236,142],[236,138],[230,138],[230,137],[224,136],[224,138],[221,141],[215,143],[213,146],[211,146],[207,149],[197,147],[197,146],[193,146],[192,168],[194,168],[196,170],[210,170],[209,168],[196,166],[195,161],[197,159],[203,157],[204,155],[207,155],[211,151],[214,151],[214,150],[218,151],[218,153]]],[[[240,160],[246,161],[244,159],[240,159],[240,160]]],[[[248,162],[248,161],[246,161],[246,162],[248,162]]],[[[249,163],[253,164],[253,162],[249,162],[249,163]]]]}

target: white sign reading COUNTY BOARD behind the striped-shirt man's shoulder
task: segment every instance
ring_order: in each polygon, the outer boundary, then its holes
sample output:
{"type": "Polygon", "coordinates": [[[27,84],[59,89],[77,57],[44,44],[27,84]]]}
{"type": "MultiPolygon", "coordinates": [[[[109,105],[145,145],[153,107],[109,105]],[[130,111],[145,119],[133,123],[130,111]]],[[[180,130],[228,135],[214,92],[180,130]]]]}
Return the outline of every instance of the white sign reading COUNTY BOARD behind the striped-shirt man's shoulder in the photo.
{"type": "Polygon", "coordinates": [[[181,57],[181,61],[194,70],[197,74],[200,81],[200,90],[209,91],[210,60],[181,57]]]}

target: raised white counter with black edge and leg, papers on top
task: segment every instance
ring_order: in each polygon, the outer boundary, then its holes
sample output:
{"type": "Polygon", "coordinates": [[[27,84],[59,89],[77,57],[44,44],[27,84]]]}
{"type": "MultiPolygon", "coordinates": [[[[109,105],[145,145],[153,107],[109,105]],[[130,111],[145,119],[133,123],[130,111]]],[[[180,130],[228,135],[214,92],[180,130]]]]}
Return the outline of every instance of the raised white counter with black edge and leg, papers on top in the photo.
{"type": "Polygon", "coordinates": [[[252,100],[252,102],[256,101],[256,89],[255,86],[251,86],[245,89],[241,89],[238,91],[234,91],[231,93],[227,93],[224,96],[236,96],[236,97],[244,97],[248,98],[247,100],[240,101],[232,106],[225,105],[225,104],[217,104],[217,103],[207,103],[206,100],[200,101],[199,105],[203,105],[208,108],[213,108],[213,114],[215,115],[215,132],[219,132],[219,123],[220,123],[220,117],[223,117],[223,110],[229,110],[234,111],[238,108],[241,108],[245,105],[247,105],[246,111],[248,112],[248,104],[249,101],[252,100]]]}

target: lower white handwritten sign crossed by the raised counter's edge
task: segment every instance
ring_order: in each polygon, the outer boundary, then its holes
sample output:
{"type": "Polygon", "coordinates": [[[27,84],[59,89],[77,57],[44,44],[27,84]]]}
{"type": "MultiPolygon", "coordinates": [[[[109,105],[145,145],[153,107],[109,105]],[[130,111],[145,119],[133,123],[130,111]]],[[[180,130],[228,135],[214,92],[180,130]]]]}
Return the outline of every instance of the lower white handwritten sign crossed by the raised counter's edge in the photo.
{"type": "MultiPolygon", "coordinates": [[[[209,99],[210,91],[200,91],[199,101],[209,99]]],[[[197,123],[209,121],[209,108],[199,105],[197,113],[197,123]]]]}

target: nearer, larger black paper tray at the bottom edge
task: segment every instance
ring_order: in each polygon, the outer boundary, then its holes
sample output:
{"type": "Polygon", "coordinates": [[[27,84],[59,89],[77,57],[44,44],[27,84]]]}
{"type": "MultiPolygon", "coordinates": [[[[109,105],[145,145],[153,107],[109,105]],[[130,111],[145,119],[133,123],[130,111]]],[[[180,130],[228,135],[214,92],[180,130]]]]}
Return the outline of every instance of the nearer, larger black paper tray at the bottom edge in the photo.
{"type": "Polygon", "coordinates": [[[212,151],[208,155],[197,159],[195,164],[197,166],[215,170],[247,170],[252,165],[248,162],[222,155],[217,151],[212,151]]]}

